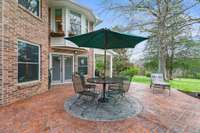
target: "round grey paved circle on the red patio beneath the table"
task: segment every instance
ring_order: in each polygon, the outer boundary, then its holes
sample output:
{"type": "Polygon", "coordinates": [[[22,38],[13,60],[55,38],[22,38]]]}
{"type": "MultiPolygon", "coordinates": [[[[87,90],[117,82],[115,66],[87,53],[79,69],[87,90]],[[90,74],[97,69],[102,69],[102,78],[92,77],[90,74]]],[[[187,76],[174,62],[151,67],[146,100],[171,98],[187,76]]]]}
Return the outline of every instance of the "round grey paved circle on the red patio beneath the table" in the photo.
{"type": "Polygon", "coordinates": [[[97,103],[84,96],[77,100],[77,97],[73,96],[67,99],[64,108],[74,117],[85,120],[124,120],[134,117],[143,110],[143,106],[138,99],[127,95],[125,97],[110,97],[107,103],[97,103]]]}

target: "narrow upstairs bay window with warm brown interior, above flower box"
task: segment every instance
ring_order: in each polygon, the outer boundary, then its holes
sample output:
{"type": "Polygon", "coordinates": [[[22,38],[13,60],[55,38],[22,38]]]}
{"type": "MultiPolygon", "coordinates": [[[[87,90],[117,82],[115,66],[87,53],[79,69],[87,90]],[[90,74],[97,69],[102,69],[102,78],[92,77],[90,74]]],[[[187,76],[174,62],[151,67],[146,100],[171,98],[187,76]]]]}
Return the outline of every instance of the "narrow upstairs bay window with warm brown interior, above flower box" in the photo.
{"type": "Polygon", "coordinates": [[[62,8],[55,9],[55,31],[57,33],[63,32],[62,21],[62,8]]]}

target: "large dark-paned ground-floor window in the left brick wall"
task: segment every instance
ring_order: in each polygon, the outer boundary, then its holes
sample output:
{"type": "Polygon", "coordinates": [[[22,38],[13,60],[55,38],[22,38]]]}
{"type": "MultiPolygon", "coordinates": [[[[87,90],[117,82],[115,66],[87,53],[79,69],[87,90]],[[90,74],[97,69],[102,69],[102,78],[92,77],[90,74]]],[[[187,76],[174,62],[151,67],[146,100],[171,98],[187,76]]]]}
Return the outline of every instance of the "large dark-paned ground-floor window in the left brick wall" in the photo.
{"type": "Polygon", "coordinates": [[[40,46],[18,41],[18,83],[40,79],[40,46]]]}

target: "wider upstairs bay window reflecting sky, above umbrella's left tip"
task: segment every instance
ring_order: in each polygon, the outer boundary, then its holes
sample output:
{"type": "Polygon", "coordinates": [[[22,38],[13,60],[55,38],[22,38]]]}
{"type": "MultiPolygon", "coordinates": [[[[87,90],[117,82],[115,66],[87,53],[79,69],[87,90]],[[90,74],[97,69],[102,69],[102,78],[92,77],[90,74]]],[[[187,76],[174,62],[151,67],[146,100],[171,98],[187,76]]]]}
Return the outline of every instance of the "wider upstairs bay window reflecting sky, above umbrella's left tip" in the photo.
{"type": "Polygon", "coordinates": [[[70,12],[70,32],[74,35],[81,34],[81,15],[73,11],[70,12]]]}

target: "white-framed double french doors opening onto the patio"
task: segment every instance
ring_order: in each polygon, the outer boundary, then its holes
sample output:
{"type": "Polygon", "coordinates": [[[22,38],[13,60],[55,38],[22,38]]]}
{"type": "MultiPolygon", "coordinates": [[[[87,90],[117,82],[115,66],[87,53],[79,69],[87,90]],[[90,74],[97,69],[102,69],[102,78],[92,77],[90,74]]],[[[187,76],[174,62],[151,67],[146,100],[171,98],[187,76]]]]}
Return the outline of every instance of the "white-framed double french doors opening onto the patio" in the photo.
{"type": "Polygon", "coordinates": [[[73,56],[52,54],[52,83],[70,82],[74,71],[73,64],[73,56]]]}

